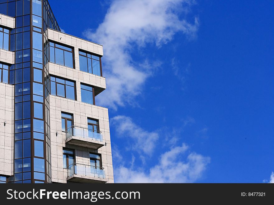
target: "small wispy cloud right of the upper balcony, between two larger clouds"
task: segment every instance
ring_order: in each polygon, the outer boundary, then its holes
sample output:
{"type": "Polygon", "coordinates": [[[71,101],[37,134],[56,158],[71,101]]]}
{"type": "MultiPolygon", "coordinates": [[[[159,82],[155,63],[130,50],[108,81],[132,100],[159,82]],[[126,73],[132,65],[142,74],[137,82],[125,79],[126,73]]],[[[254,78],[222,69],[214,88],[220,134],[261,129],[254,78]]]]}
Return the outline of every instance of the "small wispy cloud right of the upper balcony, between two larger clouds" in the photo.
{"type": "Polygon", "coordinates": [[[116,127],[116,136],[133,139],[132,149],[139,154],[144,153],[151,155],[155,148],[155,142],[159,135],[157,132],[148,132],[136,125],[130,117],[118,115],[110,120],[111,124],[116,127]]]}

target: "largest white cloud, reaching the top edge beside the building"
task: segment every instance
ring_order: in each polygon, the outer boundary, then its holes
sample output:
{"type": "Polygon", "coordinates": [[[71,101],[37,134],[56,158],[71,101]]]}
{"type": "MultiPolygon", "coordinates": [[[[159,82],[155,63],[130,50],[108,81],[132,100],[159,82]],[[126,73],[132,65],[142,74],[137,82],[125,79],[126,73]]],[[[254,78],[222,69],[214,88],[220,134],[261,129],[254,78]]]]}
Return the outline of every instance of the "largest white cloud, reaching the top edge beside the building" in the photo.
{"type": "Polygon", "coordinates": [[[159,65],[147,59],[134,62],[132,53],[136,54],[136,46],[144,48],[148,43],[155,43],[159,47],[171,41],[177,32],[187,38],[195,37],[198,18],[194,18],[193,23],[180,18],[181,14],[187,14],[192,2],[115,0],[99,27],[84,32],[88,39],[104,46],[103,75],[107,79],[107,90],[97,98],[100,105],[117,109],[117,106],[133,103],[154,67],[159,65]]]}

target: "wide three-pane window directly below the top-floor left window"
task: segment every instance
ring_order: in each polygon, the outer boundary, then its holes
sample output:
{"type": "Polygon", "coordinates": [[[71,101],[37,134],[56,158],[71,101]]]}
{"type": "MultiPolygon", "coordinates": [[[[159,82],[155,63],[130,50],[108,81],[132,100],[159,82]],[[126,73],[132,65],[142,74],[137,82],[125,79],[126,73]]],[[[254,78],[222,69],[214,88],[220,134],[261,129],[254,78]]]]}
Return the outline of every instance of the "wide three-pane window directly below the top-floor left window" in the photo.
{"type": "Polygon", "coordinates": [[[75,84],[73,81],[64,80],[57,77],[50,77],[51,95],[65,97],[75,100],[75,84]]]}

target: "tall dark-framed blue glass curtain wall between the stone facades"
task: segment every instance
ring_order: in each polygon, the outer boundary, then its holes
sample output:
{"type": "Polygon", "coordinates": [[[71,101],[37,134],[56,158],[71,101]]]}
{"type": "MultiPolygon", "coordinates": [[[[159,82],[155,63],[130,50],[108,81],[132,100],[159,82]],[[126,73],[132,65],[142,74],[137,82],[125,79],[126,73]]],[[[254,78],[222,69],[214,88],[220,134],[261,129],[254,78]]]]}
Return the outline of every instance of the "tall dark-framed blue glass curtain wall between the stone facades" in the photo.
{"type": "Polygon", "coordinates": [[[43,31],[60,28],[47,0],[1,0],[0,13],[15,17],[14,29],[0,28],[0,47],[15,52],[15,64],[9,69],[1,67],[1,81],[7,83],[7,77],[2,79],[8,72],[8,83],[15,85],[14,176],[8,182],[51,183],[48,60],[43,52],[43,31]]]}

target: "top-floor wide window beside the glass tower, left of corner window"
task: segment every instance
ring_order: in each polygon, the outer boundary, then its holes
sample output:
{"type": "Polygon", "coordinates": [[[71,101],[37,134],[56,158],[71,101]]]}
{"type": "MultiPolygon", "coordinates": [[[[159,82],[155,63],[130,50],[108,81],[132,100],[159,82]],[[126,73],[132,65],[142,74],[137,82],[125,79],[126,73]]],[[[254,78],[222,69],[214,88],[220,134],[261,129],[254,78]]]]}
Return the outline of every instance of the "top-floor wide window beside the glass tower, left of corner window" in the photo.
{"type": "Polygon", "coordinates": [[[50,42],[50,62],[73,68],[72,48],[50,42]]]}

